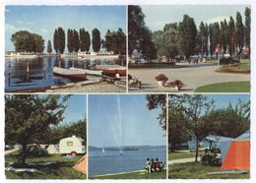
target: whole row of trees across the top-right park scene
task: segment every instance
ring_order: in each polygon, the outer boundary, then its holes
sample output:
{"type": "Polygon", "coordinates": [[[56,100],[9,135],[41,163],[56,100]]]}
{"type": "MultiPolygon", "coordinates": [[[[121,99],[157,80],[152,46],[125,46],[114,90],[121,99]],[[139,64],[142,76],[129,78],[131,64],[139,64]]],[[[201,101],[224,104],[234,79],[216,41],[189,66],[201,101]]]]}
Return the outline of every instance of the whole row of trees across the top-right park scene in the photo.
{"type": "Polygon", "coordinates": [[[173,59],[182,55],[188,59],[193,54],[201,54],[213,57],[216,53],[229,53],[232,56],[237,53],[239,56],[243,47],[249,55],[250,52],[250,24],[251,10],[246,7],[244,11],[245,22],[239,12],[235,20],[231,16],[229,20],[221,23],[201,22],[197,29],[195,21],[188,15],[183,16],[180,23],[166,24],[163,30],[151,32],[147,28],[140,6],[128,7],[128,49],[129,55],[137,50],[147,59],[157,58],[164,55],[173,59]]]}

